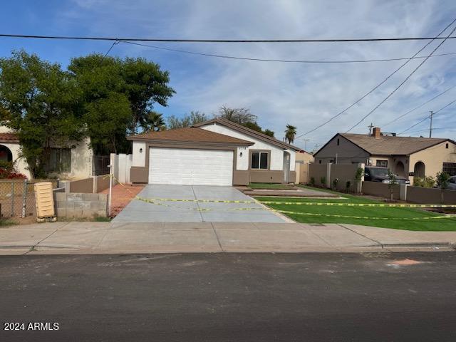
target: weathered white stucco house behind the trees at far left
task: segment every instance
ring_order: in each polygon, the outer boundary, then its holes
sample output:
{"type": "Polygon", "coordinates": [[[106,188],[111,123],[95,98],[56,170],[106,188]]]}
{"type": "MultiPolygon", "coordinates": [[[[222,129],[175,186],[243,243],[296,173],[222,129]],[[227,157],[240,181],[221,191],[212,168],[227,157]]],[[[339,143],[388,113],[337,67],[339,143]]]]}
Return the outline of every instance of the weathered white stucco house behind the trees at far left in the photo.
{"type": "MultiPolygon", "coordinates": [[[[92,176],[93,153],[88,147],[88,138],[75,143],[71,148],[53,147],[46,163],[46,171],[50,175],[61,178],[79,179],[92,176]]],[[[21,145],[11,130],[0,126],[0,160],[13,161],[17,172],[31,179],[28,165],[24,158],[19,157],[21,145]]]]}

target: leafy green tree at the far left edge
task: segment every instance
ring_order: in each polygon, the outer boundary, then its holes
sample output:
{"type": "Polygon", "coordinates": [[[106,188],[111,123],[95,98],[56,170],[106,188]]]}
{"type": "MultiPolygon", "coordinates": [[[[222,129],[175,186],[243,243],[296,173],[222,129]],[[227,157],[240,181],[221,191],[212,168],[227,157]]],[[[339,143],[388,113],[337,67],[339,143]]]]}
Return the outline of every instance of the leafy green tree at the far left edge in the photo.
{"type": "Polygon", "coordinates": [[[43,177],[53,146],[81,140],[83,113],[76,80],[56,63],[25,51],[0,58],[0,120],[21,142],[32,177],[43,177]]]}

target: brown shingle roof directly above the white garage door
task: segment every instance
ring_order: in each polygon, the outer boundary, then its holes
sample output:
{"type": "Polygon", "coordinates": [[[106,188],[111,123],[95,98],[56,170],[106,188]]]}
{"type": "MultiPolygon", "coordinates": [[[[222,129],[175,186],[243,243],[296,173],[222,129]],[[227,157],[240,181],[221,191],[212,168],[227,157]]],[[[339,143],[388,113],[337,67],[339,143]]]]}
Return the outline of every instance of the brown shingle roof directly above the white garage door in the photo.
{"type": "Polygon", "coordinates": [[[217,145],[253,145],[247,140],[237,139],[220,133],[203,130],[201,128],[187,127],[175,130],[162,130],[160,132],[147,132],[138,135],[131,135],[129,140],[155,140],[166,142],[205,142],[217,145]]]}

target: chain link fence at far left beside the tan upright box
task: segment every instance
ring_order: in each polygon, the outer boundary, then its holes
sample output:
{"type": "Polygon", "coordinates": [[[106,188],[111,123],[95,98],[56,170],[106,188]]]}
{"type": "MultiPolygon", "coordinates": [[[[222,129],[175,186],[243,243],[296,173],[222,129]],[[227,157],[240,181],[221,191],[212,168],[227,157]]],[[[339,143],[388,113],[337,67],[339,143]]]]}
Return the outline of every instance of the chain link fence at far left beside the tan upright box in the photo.
{"type": "MultiPolygon", "coordinates": [[[[40,181],[0,180],[0,214],[1,218],[35,216],[35,192],[33,185],[40,181]]],[[[57,187],[56,180],[52,182],[57,187]]]]}

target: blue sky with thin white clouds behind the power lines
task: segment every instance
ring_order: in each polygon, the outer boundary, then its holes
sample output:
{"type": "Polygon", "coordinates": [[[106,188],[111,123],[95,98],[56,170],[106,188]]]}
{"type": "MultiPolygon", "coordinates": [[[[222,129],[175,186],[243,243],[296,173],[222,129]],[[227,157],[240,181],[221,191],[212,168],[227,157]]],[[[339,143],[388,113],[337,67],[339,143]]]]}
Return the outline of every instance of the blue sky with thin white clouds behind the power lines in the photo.
{"type": "MultiPolygon", "coordinates": [[[[0,33],[115,38],[300,39],[436,36],[456,17],[452,0],[48,0],[4,1],[0,33]]],[[[454,26],[452,26],[454,27],[454,26]]],[[[451,28],[450,28],[451,29],[451,28]]],[[[450,33],[450,29],[445,31],[450,33]]],[[[444,35],[445,35],[444,33],[444,35]]],[[[455,34],[456,36],[456,34],[455,34]]],[[[427,41],[356,43],[147,43],[198,53],[286,60],[363,60],[413,56],[427,41]]],[[[440,41],[420,53],[429,55],[440,41]]],[[[0,57],[23,48],[68,66],[71,58],[106,53],[108,41],[45,41],[0,38],[0,57]]],[[[435,53],[456,52],[449,39],[435,53]]],[[[119,43],[110,56],[143,57],[170,72],[175,95],[155,110],[181,117],[199,110],[212,117],[222,105],[249,108],[264,129],[282,139],[286,125],[298,135],[320,125],[361,98],[404,61],[378,63],[278,63],[213,58],[119,43]]],[[[294,145],[314,150],[346,132],[369,113],[420,64],[410,61],[378,90],[346,113],[294,145]],[[306,139],[307,141],[304,141],[306,139]]],[[[383,126],[399,115],[456,85],[456,54],[429,58],[383,105],[351,133],[368,125],[402,132],[456,100],[456,87],[427,105],[383,126]]],[[[433,120],[432,136],[456,139],[456,102],[433,120]]],[[[429,120],[410,129],[427,136],[429,120]]]]}

